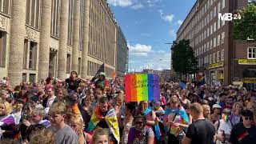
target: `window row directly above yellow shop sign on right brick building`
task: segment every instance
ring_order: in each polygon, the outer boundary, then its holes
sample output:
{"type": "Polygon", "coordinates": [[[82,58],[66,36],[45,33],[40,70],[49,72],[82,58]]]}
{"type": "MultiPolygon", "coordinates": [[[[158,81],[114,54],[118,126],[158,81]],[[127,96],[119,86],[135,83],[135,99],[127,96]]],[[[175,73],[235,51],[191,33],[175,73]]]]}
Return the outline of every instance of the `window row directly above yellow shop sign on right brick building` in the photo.
{"type": "Polygon", "coordinates": [[[206,55],[203,58],[198,58],[198,66],[206,66],[221,61],[224,61],[224,49],[217,51],[217,53],[206,55]]]}

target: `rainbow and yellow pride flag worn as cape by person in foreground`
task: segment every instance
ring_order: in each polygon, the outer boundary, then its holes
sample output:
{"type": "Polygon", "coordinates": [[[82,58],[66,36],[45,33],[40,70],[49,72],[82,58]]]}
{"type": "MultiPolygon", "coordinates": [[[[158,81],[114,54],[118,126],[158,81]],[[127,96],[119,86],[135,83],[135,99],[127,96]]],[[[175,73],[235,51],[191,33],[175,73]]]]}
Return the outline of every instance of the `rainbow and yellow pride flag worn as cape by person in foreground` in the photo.
{"type": "Polygon", "coordinates": [[[94,113],[92,114],[89,122],[89,126],[87,128],[87,131],[92,131],[95,129],[95,127],[98,125],[98,122],[100,122],[102,119],[105,119],[107,125],[109,126],[112,134],[114,134],[114,138],[120,142],[120,134],[119,134],[119,126],[118,126],[118,118],[115,114],[114,108],[110,108],[108,110],[105,117],[102,115],[102,111],[99,109],[99,107],[96,107],[94,110],[94,113]]]}

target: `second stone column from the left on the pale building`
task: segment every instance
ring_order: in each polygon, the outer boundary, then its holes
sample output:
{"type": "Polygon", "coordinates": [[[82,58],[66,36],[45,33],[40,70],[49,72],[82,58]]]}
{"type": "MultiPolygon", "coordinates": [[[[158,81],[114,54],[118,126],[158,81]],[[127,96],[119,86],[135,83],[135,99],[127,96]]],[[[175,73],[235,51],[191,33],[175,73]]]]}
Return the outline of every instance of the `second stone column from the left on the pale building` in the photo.
{"type": "Polygon", "coordinates": [[[51,0],[42,0],[38,80],[49,75],[51,0]]]}

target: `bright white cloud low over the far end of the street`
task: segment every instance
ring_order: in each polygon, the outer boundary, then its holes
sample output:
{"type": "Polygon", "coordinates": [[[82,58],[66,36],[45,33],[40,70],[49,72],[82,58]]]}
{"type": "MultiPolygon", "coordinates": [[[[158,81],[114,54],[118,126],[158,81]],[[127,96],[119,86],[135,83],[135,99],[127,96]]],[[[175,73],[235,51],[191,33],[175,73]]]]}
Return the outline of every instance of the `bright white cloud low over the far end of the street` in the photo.
{"type": "Polygon", "coordinates": [[[137,56],[147,56],[147,54],[152,50],[152,46],[146,46],[142,44],[135,44],[134,46],[130,46],[128,44],[130,54],[137,56]]]}

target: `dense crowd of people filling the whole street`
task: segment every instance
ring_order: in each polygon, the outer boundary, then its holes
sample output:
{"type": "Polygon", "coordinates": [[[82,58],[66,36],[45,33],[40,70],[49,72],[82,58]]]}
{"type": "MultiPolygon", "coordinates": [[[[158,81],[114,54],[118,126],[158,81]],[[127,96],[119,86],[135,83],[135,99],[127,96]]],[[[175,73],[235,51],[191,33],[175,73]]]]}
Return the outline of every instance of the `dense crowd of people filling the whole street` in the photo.
{"type": "Polygon", "coordinates": [[[242,86],[161,82],[160,98],[126,102],[122,78],[0,82],[2,144],[253,144],[256,93],[242,86]]]}

